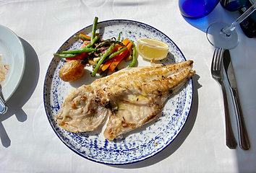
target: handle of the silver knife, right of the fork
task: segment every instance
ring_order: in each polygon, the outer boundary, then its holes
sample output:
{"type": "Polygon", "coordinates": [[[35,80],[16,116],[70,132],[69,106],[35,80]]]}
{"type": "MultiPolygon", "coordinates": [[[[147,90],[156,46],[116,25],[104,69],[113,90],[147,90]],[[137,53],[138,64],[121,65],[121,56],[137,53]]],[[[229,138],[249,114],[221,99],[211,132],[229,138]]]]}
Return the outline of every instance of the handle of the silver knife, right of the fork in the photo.
{"type": "Polygon", "coordinates": [[[242,107],[239,102],[239,95],[237,89],[231,88],[231,91],[234,95],[234,107],[236,109],[237,121],[238,121],[238,130],[239,130],[239,145],[242,149],[248,150],[250,147],[249,138],[247,130],[244,123],[244,115],[242,113],[242,107]]]}

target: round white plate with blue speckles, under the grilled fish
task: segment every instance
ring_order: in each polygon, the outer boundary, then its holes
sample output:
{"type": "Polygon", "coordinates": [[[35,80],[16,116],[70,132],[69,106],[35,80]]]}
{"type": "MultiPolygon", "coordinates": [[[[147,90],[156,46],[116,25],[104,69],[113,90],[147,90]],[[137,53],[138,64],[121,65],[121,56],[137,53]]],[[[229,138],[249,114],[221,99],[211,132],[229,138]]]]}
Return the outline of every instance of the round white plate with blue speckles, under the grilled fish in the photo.
{"type": "MultiPolygon", "coordinates": [[[[161,40],[168,45],[169,53],[167,58],[160,63],[171,64],[186,61],[181,50],[179,50],[169,37],[154,27],[150,27],[141,22],[131,20],[108,20],[99,22],[97,28],[97,32],[100,33],[101,38],[104,40],[111,37],[118,37],[119,32],[122,32],[122,38],[127,37],[135,43],[139,37],[161,40]]],[[[74,35],[80,32],[90,35],[91,30],[92,25],[85,27],[74,35]]],[[[69,39],[61,45],[58,53],[69,48],[80,48],[81,44],[80,40],[69,37],[69,39]]],[[[158,154],[163,148],[166,148],[166,146],[174,141],[187,121],[192,105],[192,79],[190,79],[178,93],[168,98],[163,109],[162,117],[145,124],[142,128],[128,133],[122,139],[107,141],[103,137],[104,125],[93,132],[70,133],[60,128],[54,120],[54,117],[59,111],[61,104],[64,102],[64,98],[72,89],[82,84],[90,84],[91,81],[99,77],[90,77],[91,67],[88,67],[85,69],[85,74],[82,79],[71,83],[64,82],[59,79],[59,69],[63,64],[63,59],[54,57],[48,67],[43,90],[46,114],[60,140],[72,151],[86,159],[103,164],[131,164],[148,159],[158,154]]],[[[150,62],[143,60],[139,56],[137,65],[150,66],[150,62]]]]}

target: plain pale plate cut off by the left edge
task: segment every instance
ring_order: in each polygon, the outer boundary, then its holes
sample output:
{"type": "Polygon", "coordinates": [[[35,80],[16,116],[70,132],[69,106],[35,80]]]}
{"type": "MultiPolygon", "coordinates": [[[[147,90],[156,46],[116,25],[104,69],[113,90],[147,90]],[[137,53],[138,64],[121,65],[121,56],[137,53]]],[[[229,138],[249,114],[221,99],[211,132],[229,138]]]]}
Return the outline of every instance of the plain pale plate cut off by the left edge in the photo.
{"type": "Polygon", "coordinates": [[[19,37],[9,28],[0,25],[0,54],[9,63],[9,73],[2,81],[2,93],[7,101],[19,86],[25,70],[25,51],[19,37]]]}

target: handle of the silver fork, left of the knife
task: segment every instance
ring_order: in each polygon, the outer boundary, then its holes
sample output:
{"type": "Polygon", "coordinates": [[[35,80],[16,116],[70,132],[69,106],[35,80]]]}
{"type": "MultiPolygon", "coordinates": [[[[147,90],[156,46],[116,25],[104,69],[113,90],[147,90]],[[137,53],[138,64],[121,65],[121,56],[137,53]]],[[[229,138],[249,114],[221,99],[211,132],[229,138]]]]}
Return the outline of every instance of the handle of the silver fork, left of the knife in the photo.
{"type": "Polygon", "coordinates": [[[226,146],[229,146],[229,148],[234,149],[237,146],[236,138],[234,137],[230,115],[229,115],[229,103],[228,98],[226,96],[226,88],[223,84],[223,82],[220,82],[221,89],[223,93],[223,101],[224,101],[224,110],[225,110],[225,123],[226,123],[226,146]]]}

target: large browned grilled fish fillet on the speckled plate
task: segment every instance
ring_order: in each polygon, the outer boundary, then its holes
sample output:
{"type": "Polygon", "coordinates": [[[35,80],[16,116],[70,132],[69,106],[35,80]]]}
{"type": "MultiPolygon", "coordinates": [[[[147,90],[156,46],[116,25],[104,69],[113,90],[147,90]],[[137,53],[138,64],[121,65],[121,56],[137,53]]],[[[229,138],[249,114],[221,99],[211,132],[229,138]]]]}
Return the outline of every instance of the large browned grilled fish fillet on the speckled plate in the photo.
{"type": "Polygon", "coordinates": [[[109,117],[103,135],[112,141],[155,120],[166,99],[195,74],[192,63],[124,68],[80,86],[66,97],[55,120],[77,133],[95,130],[109,117]]]}

